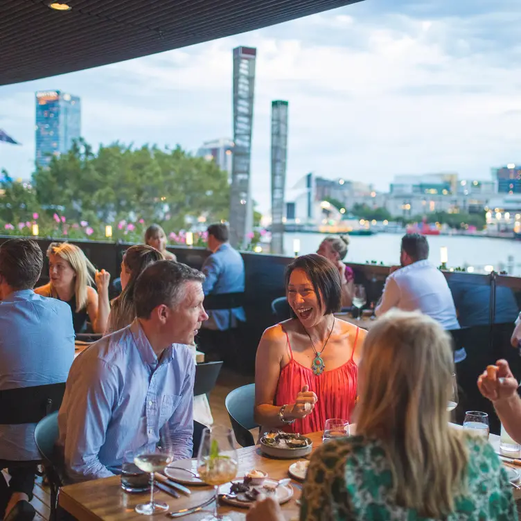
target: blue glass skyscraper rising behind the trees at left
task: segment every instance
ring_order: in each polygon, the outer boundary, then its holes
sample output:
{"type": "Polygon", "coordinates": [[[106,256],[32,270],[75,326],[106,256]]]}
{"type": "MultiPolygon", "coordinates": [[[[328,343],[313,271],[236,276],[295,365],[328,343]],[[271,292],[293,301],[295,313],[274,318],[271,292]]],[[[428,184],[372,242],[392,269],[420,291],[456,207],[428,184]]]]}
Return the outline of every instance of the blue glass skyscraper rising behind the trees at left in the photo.
{"type": "Polygon", "coordinates": [[[48,166],[53,156],[69,152],[80,136],[80,98],[60,91],[37,92],[36,164],[48,166]]]}

